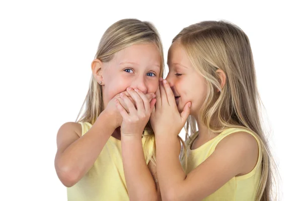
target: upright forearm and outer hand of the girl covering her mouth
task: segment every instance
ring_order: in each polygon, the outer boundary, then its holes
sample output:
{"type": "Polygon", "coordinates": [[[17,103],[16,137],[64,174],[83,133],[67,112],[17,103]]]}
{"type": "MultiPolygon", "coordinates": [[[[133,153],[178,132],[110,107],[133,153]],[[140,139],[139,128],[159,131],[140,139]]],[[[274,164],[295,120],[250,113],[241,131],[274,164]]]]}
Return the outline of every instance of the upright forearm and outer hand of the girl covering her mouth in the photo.
{"type": "Polygon", "coordinates": [[[129,113],[117,101],[116,106],[123,117],[121,124],[121,145],[125,179],[129,198],[133,200],[157,200],[154,179],[145,162],[141,135],[156,99],[149,103],[148,98],[137,89],[127,88],[136,108],[130,99],[121,94],[121,102],[125,103],[129,113]]]}

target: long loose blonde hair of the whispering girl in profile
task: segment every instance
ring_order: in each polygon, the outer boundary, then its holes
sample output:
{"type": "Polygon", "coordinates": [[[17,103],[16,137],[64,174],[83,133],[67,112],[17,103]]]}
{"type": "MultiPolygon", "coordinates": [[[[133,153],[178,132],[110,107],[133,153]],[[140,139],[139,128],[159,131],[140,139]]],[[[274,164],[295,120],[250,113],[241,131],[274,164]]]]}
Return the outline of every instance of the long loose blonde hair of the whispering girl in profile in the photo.
{"type": "Polygon", "coordinates": [[[191,116],[187,120],[187,144],[190,146],[197,137],[196,121],[215,133],[239,127],[255,133],[263,149],[257,200],[270,200],[274,162],[260,121],[261,100],[248,36],[229,22],[204,21],[184,28],[173,42],[176,40],[186,50],[194,68],[204,76],[208,91],[197,120],[191,116]],[[220,86],[217,69],[226,75],[224,87],[220,86]]]}

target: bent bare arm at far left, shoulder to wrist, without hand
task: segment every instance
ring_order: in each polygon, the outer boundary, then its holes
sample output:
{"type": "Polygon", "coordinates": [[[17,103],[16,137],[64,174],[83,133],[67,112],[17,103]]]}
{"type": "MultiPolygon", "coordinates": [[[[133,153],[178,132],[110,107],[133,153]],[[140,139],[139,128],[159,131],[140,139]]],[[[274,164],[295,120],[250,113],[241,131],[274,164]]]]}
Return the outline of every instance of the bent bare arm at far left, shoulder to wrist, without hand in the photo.
{"type": "Polygon", "coordinates": [[[65,186],[77,183],[93,166],[115,130],[110,119],[110,115],[103,111],[84,136],[78,123],[69,122],[61,126],[57,134],[55,169],[65,186]]]}

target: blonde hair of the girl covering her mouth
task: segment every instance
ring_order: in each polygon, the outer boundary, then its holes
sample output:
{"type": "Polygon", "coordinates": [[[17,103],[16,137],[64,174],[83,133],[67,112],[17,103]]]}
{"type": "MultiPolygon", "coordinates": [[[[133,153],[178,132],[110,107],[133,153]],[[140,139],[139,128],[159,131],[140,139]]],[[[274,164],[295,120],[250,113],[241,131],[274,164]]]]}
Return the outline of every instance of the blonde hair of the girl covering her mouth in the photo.
{"type": "MultiPolygon", "coordinates": [[[[157,29],[149,22],[142,22],[137,19],[117,21],[111,25],[102,36],[95,58],[100,59],[102,62],[109,62],[118,51],[130,45],[144,43],[152,43],[158,48],[162,58],[160,76],[163,77],[164,52],[162,41],[157,29]]],[[[102,88],[92,75],[88,93],[76,122],[89,122],[93,125],[103,110],[102,88]],[[79,118],[83,111],[83,115],[79,118]]],[[[145,143],[147,146],[151,139],[154,139],[154,132],[149,122],[145,130],[148,131],[148,138],[145,143]]],[[[153,156],[148,157],[153,158],[153,156]]]]}

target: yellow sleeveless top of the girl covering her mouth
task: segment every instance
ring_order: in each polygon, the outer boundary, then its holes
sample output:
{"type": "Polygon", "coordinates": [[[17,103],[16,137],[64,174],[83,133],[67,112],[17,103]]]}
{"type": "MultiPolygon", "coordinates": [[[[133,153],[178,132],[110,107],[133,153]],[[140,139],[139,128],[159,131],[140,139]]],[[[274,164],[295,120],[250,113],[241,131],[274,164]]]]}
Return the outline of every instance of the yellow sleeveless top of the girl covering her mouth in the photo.
{"type": "MultiPolygon", "coordinates": [[[[92,127],[90,123],[82,125],[82,136],[92,127]]],[[[142,137],[144,146],[146,137],[142,137]]],[[[144,151],[146,164],[153,152],[154,138],[144,151]],[[146,154],[148,153],[148,154],[146,154]]],[[[92,168],[83,178],[71,187],[67,187],[70,201],[129,200],[122,163],[121,141],[110,136],[92,168]]]]}

